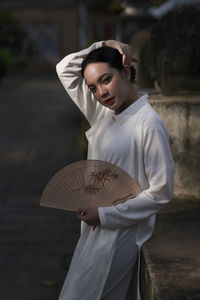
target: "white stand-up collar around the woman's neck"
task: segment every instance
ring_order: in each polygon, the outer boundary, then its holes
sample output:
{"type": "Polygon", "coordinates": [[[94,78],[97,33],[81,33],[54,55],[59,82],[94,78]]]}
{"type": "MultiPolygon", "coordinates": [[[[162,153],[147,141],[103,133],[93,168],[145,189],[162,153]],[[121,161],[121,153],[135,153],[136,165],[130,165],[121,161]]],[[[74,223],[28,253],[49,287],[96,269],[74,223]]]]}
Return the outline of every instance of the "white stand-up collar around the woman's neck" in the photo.
{"type": "Polygon", "coordinates": [[[144,95],[140,96],[135,102],[129,105],[125,110],[123,110],[120,114],[116,115],[115,112],[112,111],[112,119],[117,123],[121,123],[122,121],[125,121],[129,116],[136,114],[138,110],[140,110],[140,108],[142,108],[147,103],[148,94],[145,93],[144,95]]]}

